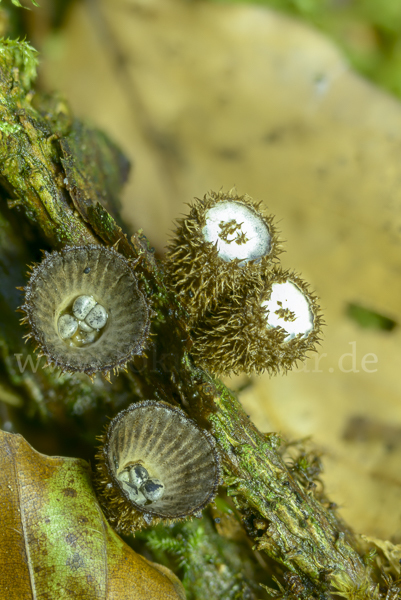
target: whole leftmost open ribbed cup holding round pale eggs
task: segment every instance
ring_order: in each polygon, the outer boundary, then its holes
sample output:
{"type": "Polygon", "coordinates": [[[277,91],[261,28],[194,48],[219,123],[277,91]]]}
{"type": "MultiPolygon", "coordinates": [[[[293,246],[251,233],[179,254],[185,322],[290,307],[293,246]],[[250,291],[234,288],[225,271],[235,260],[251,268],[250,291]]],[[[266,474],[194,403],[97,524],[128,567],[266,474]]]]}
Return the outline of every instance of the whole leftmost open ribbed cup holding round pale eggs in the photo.
{"type": "Polygon", "coordinates": [[[108,377],[142,354],[149,308],[132,263],[114,249],[93,244],[46,254],[24,289],[26,337],[48,364],[108,377]]]}

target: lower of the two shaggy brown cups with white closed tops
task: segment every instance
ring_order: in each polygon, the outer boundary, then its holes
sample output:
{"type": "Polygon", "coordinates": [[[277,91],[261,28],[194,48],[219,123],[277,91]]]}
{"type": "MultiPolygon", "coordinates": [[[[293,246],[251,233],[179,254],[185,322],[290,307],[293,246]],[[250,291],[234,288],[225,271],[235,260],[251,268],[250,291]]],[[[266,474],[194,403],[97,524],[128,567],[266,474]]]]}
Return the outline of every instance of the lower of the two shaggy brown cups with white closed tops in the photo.
{"type": "Polygon", "coordinates": [[[193,329],[192,354],[216,375],[286,372],[320,339],[317,298],[295,273],[274,268],[265,285],[243,291],[243,303],[226,297],[193,329]]]}

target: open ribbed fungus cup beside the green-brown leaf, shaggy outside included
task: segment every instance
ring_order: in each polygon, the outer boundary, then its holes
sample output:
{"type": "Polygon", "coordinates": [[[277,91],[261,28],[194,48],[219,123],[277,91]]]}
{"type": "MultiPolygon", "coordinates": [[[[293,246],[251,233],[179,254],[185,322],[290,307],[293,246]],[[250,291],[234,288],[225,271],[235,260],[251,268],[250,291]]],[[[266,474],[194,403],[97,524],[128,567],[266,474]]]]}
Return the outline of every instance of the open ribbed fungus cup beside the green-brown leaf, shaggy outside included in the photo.
{"type": "Polygon", "coordinates": [[[97,487],[119,532],[200,516],[216,496],[214,438],[179,408],[156,400],[131,404],[100,439],[97,487]]]}

